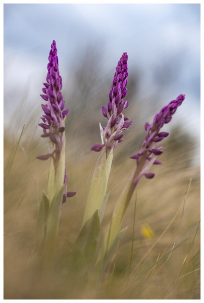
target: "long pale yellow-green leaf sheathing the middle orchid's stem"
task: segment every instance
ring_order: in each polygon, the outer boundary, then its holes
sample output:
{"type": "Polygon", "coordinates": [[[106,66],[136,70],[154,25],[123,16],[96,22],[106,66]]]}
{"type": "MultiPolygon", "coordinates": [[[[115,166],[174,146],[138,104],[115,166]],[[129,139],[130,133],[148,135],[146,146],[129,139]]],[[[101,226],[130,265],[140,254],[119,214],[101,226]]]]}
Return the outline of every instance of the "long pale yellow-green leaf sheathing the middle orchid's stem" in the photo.
{"type": "Polygon", "coordinates": [[[107,158],[106,149],[100,154],[89,189],[87,204],[84,212],[82,226],[92,217],[94,212],[100,209],[107,191],[107,184],[113,160],[113,148],[107,158]]]}

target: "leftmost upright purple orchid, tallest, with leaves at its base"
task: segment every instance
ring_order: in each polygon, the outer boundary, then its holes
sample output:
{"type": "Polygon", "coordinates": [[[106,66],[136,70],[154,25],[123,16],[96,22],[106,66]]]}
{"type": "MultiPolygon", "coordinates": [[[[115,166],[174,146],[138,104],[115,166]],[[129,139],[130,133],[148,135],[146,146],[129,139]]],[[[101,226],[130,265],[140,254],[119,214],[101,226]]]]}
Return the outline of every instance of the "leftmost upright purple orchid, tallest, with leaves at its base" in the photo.
{"type": "Polygon", "coordinates": [[[65,168],[65,119],[69,110],[64,110],[62,77],[59,72],[56,41],[54,40],[48,57],[46,83],[42,88],[44,94],[40,96],[46,101],[42,104],[44,115],[41,137],[48,138],[49,153],[40,155],[39,160],[50,161],[47,192],[43,191],[37,219],[36,248],[42,249],[43,264],[52,264],[58,235],[60,214],[66,197],[76,192],[67,192],[67,171],[65,168]]]}

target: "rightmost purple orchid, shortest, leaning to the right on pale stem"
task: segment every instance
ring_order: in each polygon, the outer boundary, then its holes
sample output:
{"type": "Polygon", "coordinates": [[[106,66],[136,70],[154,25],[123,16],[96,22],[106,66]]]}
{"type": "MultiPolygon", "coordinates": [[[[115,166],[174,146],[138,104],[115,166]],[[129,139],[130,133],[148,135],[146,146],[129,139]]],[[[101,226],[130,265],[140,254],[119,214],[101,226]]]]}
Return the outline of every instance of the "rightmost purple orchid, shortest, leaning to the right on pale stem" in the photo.
{"type": "Polygon", "coordinates": [[[154,178],[155,173],[150,173],[149,169],[152,165],[162,164],[157,160],[157,157],[163,153],[164,147],[157,147],[157,143],[167,137],[169,133],[162,132],[161,128],[164,126],[164,124],[171,121],[173,114],[182,104],[184,98],[184,94],[179,95],[176,100],[172,100],[160,111],[159,114],[155,115],[152,124],[149,124],[148,122],[145,123],[144,129],[146,134],[141,149],[137,154],[131,156],[132,159],[136,160],[136,168],[127,182],[115,207],[98,260],[106,257],[107,252],[111,249],[114,241],[117,239],[122,220],[139,180],[142,176],[145,176],[147,179],[154,178]]]}

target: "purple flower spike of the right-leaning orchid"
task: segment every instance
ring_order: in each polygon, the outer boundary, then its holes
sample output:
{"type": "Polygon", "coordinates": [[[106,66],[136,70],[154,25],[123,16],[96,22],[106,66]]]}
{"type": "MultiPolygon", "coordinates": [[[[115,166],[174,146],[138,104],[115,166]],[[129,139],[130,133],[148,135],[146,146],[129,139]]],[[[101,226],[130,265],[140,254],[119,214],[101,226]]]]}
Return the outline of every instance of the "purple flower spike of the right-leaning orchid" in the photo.
{"type": "Polygon", "coordinates": [[[142,143],[139,153],[131,157],[132,159],[136,159],[137,167],[139,167],[139,165],[142,166],[140,173],[134,180],[135,184],[139,181],[139,178],[142,175],[144,175],[147,179],[154,178],[155,174],[147,173],[147,171],[149,170],[152,164],[162,164],[156,159],[159,155],[163,153],[164,147],[157,147],[157,142],[162,141],[169,135],[168,132],[160,132],[160,130],[164,124],[167,124],[171,121],[173,114],[176,112],[177,108],[182,104],[184,99],[185,94],[179,95],[176,100],[171,101],[160,111],[159,114],[155,115],[152,124],[149,124],[148,122],[145,123],[145,140],[142,143]]]}

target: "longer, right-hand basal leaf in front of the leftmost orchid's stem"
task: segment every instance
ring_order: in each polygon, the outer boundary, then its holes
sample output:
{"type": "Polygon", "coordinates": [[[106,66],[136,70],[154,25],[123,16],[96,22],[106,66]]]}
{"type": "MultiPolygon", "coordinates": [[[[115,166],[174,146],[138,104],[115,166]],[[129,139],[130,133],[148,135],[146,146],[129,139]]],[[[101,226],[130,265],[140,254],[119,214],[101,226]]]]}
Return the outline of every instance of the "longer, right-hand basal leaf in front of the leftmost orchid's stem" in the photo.
{"type": "Polygon", "coordinates": [[[54,199],[51,201],[49,212],[46,222],[46,237],[44,244],[44,266],[49,267],[55,255],[55,246],[58,236],[60,213],[62,207],[63,189],[55,195],[54,199]]]}

